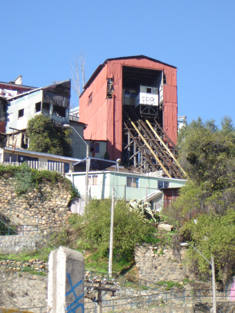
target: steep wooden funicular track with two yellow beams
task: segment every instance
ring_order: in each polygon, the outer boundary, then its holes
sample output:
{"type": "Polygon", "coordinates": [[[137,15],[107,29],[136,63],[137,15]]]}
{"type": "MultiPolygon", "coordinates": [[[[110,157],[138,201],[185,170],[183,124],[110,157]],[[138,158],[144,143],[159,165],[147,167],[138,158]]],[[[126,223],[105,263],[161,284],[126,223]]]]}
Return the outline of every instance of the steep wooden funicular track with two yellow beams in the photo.
{"type": "Polygon", "coordinates": [[[186,173],[177,161],[177,148],[163,131],[157,121],[152,124],[147,119],[125,114],[124,132],[127,136],[125,146],[127,159],[136,170],[142,173],[163,170],[168,178],[184,179],[186,173]]]}

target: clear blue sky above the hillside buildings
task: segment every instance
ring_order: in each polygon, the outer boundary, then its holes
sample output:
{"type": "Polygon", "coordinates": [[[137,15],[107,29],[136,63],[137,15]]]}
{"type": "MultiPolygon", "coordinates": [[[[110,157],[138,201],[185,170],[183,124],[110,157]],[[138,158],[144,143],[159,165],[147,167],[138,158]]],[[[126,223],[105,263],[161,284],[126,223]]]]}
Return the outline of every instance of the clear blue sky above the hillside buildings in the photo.
{"type": "Polygon", "coordinates": [[[69,79],[79,49],[87,80],[108,58],[143,54],[178,68],[178,115],[235,123],[234,16],[233,0],[2,1],[0,81],[69,79]]]}

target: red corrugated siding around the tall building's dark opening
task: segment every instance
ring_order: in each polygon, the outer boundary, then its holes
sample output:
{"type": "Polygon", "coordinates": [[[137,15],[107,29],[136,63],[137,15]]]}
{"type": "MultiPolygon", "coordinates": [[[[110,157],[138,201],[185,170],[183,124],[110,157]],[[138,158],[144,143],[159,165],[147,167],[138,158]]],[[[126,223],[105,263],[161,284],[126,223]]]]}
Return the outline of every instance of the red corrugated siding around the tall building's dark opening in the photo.
{"type": "Polygon", "coordinates": [[[122,59],[108,61],[80,98],[79,120],[88,124],[85,139],[107,140],[111,159],[121,157],[122,151],[122,65],[164,70],[164,131],[177,141],[177,79],[176,68],[148,59],[122,59]],[[107,78],[114,80],[114,98],[106,99],[107,78]],[[93,92],[93,103],[88,97],[93,92]]]}

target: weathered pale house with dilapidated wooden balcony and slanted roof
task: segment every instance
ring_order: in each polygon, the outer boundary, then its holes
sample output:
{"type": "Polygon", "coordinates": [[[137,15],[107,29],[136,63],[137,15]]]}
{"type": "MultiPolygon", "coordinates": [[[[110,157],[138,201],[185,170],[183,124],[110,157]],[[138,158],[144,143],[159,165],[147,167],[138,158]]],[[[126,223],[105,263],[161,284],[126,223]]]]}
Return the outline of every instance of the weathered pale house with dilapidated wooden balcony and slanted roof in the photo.
{"type": "Polygon", "coordinates": [[[69,123],[71,80],[58,82],[7,98],[6,134],[8,145],[27,148],[25,138],[27,122],[36,114],[49,117],[57,127],[69,123]]]}

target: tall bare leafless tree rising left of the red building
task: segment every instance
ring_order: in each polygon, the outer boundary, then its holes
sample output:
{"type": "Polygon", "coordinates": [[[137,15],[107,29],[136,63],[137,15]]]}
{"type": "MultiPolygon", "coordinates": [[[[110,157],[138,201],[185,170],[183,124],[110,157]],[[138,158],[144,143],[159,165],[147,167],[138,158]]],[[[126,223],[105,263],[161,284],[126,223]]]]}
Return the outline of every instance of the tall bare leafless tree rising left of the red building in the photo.
{"type": "Polygon", "coordinates": [[[76,92],[78,99],[81,94],[81,89],[83,89],[83,87],[85,86],[85,77],[86,77],[85,60],[86,60],[86,53],[84,55],[83,51],[80,49],[80,54],[78,57],[76,57],[75,53],[73,53],[74,65],[72,65],[72,63],[70,62],[71,75],[72,75],[72,81],[73,81],[72,89],[76,92]],[[81,88],[80,74],[82,75],[82,88],[81,88]]]}

